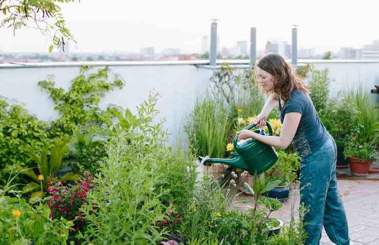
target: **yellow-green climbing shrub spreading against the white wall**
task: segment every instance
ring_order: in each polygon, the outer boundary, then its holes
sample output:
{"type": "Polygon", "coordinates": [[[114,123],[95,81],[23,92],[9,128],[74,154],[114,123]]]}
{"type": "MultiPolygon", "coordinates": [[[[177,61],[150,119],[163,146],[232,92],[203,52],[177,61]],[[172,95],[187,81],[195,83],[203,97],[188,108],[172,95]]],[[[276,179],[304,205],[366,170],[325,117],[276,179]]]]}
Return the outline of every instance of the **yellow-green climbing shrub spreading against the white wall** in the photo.
{"type": "Polygon", "coordinates": [[[73,130],[85,128],[88,131],[97,131],[101,126],[110,127],[118,108],[108,107],[103,111],[99,102],[106,92],[114,87],[122,88],[123,82],[116,75],[113,82],[109,82],[109,67],[100,68],[97,74],[86,75],[92,66],[82,66],[80,74],[73,79],[69,91],[55,88],[53,77],[38,82],[41,88],[49,92],[53,99],[55,110],[61,117],[52,122],[52,134],[71,134],[73,130]]]}

